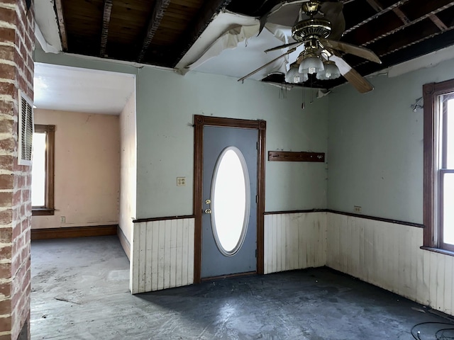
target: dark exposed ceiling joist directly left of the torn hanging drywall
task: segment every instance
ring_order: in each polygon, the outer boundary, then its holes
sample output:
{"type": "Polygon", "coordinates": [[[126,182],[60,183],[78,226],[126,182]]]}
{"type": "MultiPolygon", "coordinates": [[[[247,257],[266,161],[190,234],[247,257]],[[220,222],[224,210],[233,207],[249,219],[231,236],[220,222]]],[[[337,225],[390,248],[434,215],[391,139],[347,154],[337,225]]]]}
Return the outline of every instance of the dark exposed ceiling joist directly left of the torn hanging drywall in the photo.
{"type": "Polygon", "coordinates": [[[175,67],[175,65],[178,64],[179,60],[182,59],[184,54],[191,48],[201,33],[204,32],[205,28],[213,20],[213,16],[221,11],[222,8],[228,6],[230,2],[231,0],[211,0],[204,2],[203,6],[200,8],[199,15],[196,16],[192,23],[192,29],[184,34],[177,44],[177,49],[173,53],[176,58],[172,62],[172,67],[175,67]]]}

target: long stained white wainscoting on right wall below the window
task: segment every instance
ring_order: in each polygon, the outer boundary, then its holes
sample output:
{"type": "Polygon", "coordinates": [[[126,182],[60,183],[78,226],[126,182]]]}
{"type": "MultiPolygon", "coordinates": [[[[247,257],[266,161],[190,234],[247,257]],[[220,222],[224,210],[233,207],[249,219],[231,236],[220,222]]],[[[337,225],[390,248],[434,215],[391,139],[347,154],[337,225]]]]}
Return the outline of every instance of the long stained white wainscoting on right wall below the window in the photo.
{"type": "Polygon", "coordinates": [[[454,256],[420,249],[423,226],[328,212],[326,265],[454,314],[454,256]]]}

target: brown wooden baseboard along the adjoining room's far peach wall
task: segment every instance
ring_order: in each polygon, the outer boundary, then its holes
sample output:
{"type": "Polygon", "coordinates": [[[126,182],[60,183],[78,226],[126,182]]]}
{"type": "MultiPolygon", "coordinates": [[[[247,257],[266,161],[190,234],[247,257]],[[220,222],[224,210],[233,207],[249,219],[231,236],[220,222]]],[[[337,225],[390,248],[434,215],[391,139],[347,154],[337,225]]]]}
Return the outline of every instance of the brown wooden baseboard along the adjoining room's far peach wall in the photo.
{"type": "Polygon", "coordinates": [[[117,227],[118,225],[93,225],[87,227],[31,229],[31,240],[116,235],[117,227]]]}

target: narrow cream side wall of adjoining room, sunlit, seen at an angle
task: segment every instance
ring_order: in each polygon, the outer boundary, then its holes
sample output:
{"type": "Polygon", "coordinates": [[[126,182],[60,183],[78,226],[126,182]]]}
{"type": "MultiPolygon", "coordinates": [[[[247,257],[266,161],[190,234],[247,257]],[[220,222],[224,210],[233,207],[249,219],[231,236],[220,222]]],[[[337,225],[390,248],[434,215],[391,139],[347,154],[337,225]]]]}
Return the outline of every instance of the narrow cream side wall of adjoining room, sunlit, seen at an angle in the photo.
{"type": "Polygon", "coordinates": [[[131,243],[137,187],[137,140],[135,135],[135,92],[120,114],[121,191],[119,225],[131,243]]]}

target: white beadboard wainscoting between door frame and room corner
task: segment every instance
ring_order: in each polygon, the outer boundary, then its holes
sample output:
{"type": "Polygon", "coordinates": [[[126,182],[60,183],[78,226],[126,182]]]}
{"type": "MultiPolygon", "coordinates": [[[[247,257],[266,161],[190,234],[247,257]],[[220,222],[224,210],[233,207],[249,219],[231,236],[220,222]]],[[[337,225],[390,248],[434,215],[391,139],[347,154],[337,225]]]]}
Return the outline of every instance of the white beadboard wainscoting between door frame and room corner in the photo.
{"type": "Polygon", "coordinates": [[[326,265],[326,212],[265,214],[265,274],[326,265]]]}

